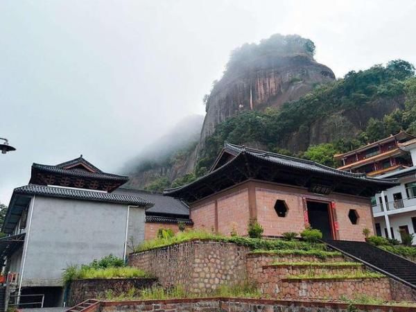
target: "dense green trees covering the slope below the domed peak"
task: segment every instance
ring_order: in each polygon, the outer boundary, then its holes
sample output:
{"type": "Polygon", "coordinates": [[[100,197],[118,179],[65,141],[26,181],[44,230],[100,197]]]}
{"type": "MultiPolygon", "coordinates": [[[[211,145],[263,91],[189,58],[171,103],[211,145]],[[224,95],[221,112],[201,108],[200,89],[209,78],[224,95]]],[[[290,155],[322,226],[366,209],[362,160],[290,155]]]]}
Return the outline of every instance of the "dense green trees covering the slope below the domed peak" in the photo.
{"type": "Polygon", "coordinates": [[[204,155],[197,170],[209,167],[223,147],[224,141],[233,144],[259,142],[268,150],[281,150],[281,141],[293,132],[308,129],[318,119],[333,112],[342,112],[370,105],[377,99],[406,98],[405,109],[385,115],[383,120],[370,119],[356,139],[338,139],[311,146],[297,156],[335,166],[332,155],[343,153],[370,141],[407,130],[416,132],[416,78],[415,68],[404,60],[375,65],[364,71],[350,71],[344,78],[320,85],[299,101],[286,103],[280,110],[268,107],[265,111],[246,111],[221,123],[207,138],[204,155]]]}

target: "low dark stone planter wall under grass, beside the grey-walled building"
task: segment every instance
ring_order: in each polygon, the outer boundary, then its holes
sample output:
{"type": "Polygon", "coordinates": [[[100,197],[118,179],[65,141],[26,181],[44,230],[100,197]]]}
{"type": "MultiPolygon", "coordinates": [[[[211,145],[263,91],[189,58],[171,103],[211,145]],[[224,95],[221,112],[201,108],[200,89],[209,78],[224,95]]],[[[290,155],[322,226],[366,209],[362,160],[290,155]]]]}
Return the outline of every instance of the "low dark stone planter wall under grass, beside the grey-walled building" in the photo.
{"type": "Polygon", "coordinates": [[[68,304],[75,306],[87,299],[99,299],[105,296],[106,291],[112,291],[113,295],[127,293],[131,288],[142,289],[151,287],[157,279],[76,279],[71,282],[68,304]]]}

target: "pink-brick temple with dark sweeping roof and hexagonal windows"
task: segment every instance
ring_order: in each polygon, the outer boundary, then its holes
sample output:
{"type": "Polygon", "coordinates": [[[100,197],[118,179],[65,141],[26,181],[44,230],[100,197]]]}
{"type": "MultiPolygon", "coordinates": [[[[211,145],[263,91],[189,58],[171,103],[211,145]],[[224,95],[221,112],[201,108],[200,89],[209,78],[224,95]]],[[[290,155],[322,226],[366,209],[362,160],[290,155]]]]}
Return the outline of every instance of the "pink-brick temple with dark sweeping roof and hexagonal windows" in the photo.
{"type": "Polygon", "coordinates": [[[363,241],[374,234],[370,197],[397,185],[315,162],[225,144],[207,175],[164,195],[189,205],[193,226],[247,234],[256,219],[264,236],[302,232],[311,225],[324,239],[363,241]]]}

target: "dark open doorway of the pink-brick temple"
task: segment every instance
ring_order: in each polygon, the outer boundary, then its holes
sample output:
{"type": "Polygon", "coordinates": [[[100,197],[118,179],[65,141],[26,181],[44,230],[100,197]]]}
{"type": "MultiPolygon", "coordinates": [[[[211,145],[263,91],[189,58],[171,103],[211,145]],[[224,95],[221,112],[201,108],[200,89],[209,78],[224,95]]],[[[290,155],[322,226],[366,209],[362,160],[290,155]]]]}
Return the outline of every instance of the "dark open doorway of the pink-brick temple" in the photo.
{"type": "Polygon", "coordinates": [[[306,201],[308,207],[309,224],[313,229],[322,232],[322,239],[333,239],[331,217],[329,216],[328,202],[306,201]]]}

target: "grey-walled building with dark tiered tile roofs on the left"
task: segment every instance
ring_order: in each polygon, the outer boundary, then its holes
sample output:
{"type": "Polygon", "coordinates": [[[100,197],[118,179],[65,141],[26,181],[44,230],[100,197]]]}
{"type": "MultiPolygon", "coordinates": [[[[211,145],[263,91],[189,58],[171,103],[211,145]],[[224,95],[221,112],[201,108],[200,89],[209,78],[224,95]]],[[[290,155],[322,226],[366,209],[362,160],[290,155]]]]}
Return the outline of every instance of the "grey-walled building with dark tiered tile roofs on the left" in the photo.
{"type": "Polygon", "coordinates": [[[15,276],[15,295],[43,294],[44,306],[60,306],[67,266],[109,254],[125,258],[159,227],[192,224],[184,203],[121,188],[125,182],[128,177],[105,173],[82,155],[58,165],[33,164],[29,184],[12,193],[2,228],[8,236],[0,239],[1,264],[15,276]]]}

